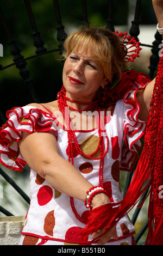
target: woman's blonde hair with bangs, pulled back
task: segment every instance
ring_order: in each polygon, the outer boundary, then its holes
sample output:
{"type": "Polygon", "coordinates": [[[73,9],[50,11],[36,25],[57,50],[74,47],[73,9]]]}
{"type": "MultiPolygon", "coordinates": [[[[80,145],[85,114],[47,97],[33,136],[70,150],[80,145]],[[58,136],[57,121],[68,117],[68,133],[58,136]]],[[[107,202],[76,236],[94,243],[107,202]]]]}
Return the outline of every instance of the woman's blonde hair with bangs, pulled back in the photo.
{"type": "Polygon", "coordinates": [[[88,49],[102,66],[105,77],[112,82],[114,78],[121,78],[121,73],[127,68],[123,62],[126,56],[125,48],[117,35],[105,28],[85,28],[72,33],[64,44],[64,58],[79,48],[88,49]]]}

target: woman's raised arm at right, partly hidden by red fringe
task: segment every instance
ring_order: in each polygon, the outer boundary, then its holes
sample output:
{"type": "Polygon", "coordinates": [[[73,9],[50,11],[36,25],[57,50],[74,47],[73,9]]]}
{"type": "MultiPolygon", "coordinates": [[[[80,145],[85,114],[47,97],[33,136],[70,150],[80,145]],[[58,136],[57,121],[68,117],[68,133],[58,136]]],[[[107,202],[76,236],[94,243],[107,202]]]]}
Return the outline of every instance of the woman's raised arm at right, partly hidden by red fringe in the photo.
{"type": "MultiPolygon", "coordinates": [[[[163,0],[152,0],[153,8],[160,28],[163,28],[163,0]]],[[[163,38],[163,35],[162,35],[163,38]]],[[[140,104],[140,112],[138,118],[147,121],[150,103],[153,95],[155,79],[148,83],[145,90],[137,95],[137,100],[140,104]]]]}

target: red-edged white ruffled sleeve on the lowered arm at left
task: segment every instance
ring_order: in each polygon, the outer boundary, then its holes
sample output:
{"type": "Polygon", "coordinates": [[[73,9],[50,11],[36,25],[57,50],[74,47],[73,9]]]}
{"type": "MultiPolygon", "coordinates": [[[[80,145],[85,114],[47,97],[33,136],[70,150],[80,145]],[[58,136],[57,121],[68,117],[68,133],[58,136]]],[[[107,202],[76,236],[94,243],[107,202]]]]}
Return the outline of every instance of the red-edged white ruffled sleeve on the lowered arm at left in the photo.
{"type": "Polygon", "coordinates": [[[57,129],[51,114],[32,106],[14,107],[7,112],[7,122],[0,128],[0,162],[3,166],[22,171],[27,164],[18,147],[22,132],[32,133],[57,129]]]}

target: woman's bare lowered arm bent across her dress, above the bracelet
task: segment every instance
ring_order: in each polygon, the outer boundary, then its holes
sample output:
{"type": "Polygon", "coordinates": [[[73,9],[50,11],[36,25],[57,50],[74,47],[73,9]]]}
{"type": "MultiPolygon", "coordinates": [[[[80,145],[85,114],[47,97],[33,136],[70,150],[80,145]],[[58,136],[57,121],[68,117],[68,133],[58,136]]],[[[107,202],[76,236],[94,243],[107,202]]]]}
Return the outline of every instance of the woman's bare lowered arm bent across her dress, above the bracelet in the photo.
{"type": "Polygon", "coordinates": [[[58,191],[84,201],[92,186],[70,162],[59,154],[54,132],[23,133],[19,143],[28,165],[58,191]]]}

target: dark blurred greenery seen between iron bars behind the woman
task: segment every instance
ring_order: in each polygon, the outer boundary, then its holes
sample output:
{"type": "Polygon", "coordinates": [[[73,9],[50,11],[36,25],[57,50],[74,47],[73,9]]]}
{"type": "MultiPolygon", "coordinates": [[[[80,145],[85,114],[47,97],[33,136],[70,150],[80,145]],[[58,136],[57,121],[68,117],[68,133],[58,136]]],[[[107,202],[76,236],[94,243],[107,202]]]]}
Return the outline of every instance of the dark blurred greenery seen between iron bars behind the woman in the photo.
{"type": "MultiPolygon", "coordinates": [[[[129,13],[133,13],[136,0],[114,0],[113,19],[114,25],[127,25],[129,13]],[[133,10],[130,10],[133,7],[133,10]]],[[[57,41],[57,21],[55,19],[54,5],[52,0],[30,0],[33,14],[36,20],[38,31],[45,42],[48,50],[58,48],[57,41]]],[[[35,54],[33,46],[32,28],[28,19],[28,14],[23,0],[1,0],[0,6],[7,20],[13,38],[16,40],[21,54],[24,58],[35,54]]],[[[62,24],[68,34],[73,29],[82,25],[82,1],[59,0],[62,24]]],[[[152,8],[152,1],[142,1],[141,23],[156,23],[152,8]],[[148,8],[147,8],[148,7],[148,8]]],[[[103,27],[108,19],[108,1],[88,0],[88,19],[91,25],[103,27]]],[[[0,43],[3,45],[3,57],[0,64],[5,66],[12,63],[12,56],[5,35],[2,22],[0,21],[0,43]]],[[[48,102],[56,99],[58,90],[62,86],[62,63],[58,53],[46,54],[41,57],[30,59],[27,68],[33,80],[33,86],[40,102],[48,102]]],[[[33,100],[28,89],[23,83],[19,70],[15,65],[0,71],[0,91],[4,101],[0,103],[2,113],[14,106],[24,106],[33,100]]]]}

